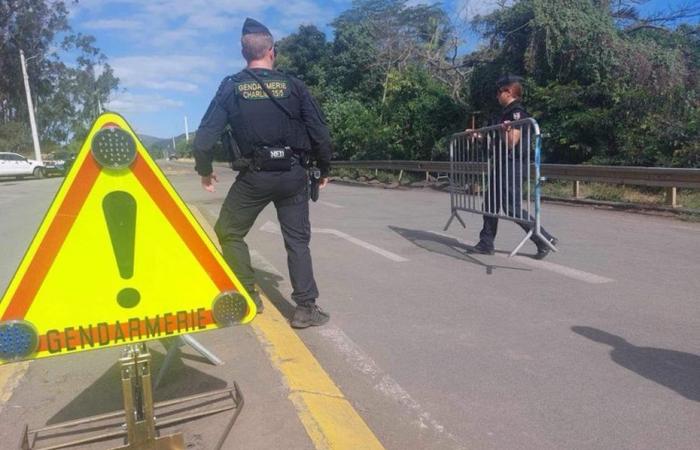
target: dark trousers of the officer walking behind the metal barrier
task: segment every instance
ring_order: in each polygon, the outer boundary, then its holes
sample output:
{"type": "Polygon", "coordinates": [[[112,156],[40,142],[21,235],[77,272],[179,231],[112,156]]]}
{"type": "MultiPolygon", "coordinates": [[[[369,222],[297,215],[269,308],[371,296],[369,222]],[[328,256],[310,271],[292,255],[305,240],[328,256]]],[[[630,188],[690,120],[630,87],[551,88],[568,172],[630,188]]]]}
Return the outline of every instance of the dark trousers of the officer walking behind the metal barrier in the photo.
{"type": "MultiPolygon", "coordinates": [[[[498,166],[498,161],[496,161],[496,166],[498,166]]],[[[491,181],[489,182],[489,190],[486,192],[484,207],[486,211],[498,214],[503,208],[503,211],[511,217],[518,217],[524,220],[534,221],[528,214],[528,212],[522,209],[522,186],[520,184],[520,174],[522,167],[518,161],[513,165],[513,160],[510,158],[504,158],[503,163],[500,164],[500,170],[492,170],[490,172],[491,181]],[[508,176],[506,176],[506,167],[508,171],[508,176]],[[500,172],[500,173],[499,173],[500,172]]],[[[532,228],[528,224],[516,222],[520,227],[529,232],[532,228]]],[[[547,232],[544,228],[540,228],[542,235],[547,239],[551,240],[552,235],[547,232]]],[[[496,239],[496,233],[498,232],[498,218],[491,216],[484,216],[484,226],[479,233],[479,239],[486,245],[493,247],[493,241],[496,239]]],[[[540,248],[546,244],[540,242],[540,238],[534,234],[530,237],[530,240],[540,248]]]]}

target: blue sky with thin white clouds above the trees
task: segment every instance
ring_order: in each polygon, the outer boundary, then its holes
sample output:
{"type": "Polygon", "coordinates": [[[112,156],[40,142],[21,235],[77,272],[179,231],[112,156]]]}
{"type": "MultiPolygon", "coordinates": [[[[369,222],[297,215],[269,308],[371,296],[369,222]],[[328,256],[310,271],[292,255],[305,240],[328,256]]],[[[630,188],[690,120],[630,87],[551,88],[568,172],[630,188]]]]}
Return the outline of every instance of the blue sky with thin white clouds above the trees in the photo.
{"type": "MultiPolygon", "coordinates": [[[[468,18],[496,3],[442,5],[452,17],[468,18]]],[[[650,0],[642,9],[680,3],[687,0],[650,0]]],[[[221,80],[245,66],[240,32],[246,17],[267,25],[275,39],[314,24],[332,40],[328,24],[350,6],[351,0],[80,0],[71,6],[70,24],[95,36],[120,79],[106,108],[124,115],[140,134],[169,138],[185,132],[185,117],[189,131],[196,130],[221,80]]],[[[464,50],[478,44],[475,35],[464,37],[464,50]]]]}

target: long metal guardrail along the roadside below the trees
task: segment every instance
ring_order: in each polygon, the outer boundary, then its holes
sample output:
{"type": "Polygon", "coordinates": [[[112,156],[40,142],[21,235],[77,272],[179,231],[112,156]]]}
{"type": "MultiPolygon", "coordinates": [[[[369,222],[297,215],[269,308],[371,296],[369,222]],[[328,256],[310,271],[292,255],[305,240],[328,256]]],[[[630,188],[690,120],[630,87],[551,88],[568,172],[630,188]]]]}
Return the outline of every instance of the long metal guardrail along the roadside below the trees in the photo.
{"type": "MultiPolygon", "coordinates": [[[[398,170],[399,179],[403,172],[447,173],[449,161],[334,161],[333,167],[353,169],[398,170]]],[[[457,164],[458,172],[471,173],[480,170],[469,164],[457,164]]],[[[629,166],[586,166],[570,164],[542,164],[545,178],[573,181],[573,196],[580,198],[580,183],[599,182],[628,184],[633,186],[665,187],[666,203],[674,208],[678,206],[676,191],[678,188],[700,189],[700,169],[676,169],[666,167],[629,167],[629,166]]]]}

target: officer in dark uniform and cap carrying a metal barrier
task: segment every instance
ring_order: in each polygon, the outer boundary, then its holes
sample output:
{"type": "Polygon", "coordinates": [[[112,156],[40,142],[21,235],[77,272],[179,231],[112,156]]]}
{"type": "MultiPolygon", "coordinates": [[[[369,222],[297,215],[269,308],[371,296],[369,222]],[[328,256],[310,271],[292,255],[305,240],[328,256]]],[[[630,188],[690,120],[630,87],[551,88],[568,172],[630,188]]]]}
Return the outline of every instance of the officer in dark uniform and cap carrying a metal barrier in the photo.
{"type": "MultiPolygon", "coordinates": [[[[508,128],[507,124],[530,117],[530,114],[528,114],[521,103],[523,90],[521,82],[522,78],[514,75],[501,77],[496,82],[496,96],[498,98],[498,103],[503,107],[497,121],[497,123],[504,124],[500,139],[504,139],[507,143],[507,148],[510,149],[516,148],[515,146],[520,142],[521,133],[520,129],[508,128]]],[[[520,173],[523,168],[520,164],[513,164],[513,155],[508,149],[506,149],[506,153],[508,154],[506,158],[502,158],[499,152],[496,154],[493,163],[494,166],[500,165],[500,171],[496,171],[495,168],[491,171],[491,182],[486,194],[486,204],[484,207],[488,212],[498,214],[501,210],[501,206],[503,206],[503,209],[509,216],[515,217],[517,215],[523,218],[529,217],[529,220],[533,221],[534,219],[528,215],[528,212],[521,209],[522,187],[520,186],[520,173]],[[506,166],[508,169],[506,169],[506,166]],[[500,176],[498,175],[499,172],[500,176]],[[508,173],[507,178],[506,173],[508,173]],[[520,211],[522,211],[522,215],[519,214],[520,211]]],[[[527,167],[525,170],[527,170],[527,167]]],[[[530,231],[529,225],[520,222],[518,222],[518,225],[525,231],[530,231]]],[[[474,246],[474,250],[477,253],[493,255],[495,253],[493,241],[496,238],[497,231],[498,218],[484,215],[484,226],[479,234],[479,243],[474,246]]],[[[556,246],[558,241],[555,237],[549,234],[544,228],[541,228],[540,231],[552,245],[556,246]]],[[[550,247],[534,234],[530,239],[537,245],[537,254],[534,258],[545,258],[550,252],[550,247]]]]}

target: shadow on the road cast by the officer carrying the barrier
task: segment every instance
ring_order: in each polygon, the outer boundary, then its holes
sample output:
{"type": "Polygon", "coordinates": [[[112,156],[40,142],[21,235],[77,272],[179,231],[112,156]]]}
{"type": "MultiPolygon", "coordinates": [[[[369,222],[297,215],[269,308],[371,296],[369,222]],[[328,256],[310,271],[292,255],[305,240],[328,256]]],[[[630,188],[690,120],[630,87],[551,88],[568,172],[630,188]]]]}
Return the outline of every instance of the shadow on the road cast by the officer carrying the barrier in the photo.
{"type": "Polygon", "coordinates": [[[486,264],[479,259],[472,256],[474,253],[474,248],[459,242],[455,238],[441,236],[439,234],[431,233],[429,231],[422,230],[410,230],[407,228],[395,227],[389,225],[389,229],[397,233],[399,236],[405,238],[416,246],[428,250],[429,252],[439,253],[441,255],[449,256],[451,258],[459,259],[462,261],[470,262],[476,264],[477,266],[484,267],[486,269],[486,274],[491,275],[494,269],[509,269],[509,270],[522,270],[530,272],[530,269],[525,269],[522,267],[512,267],[512,266],[499,266],[494,264],[486,264]]]}

